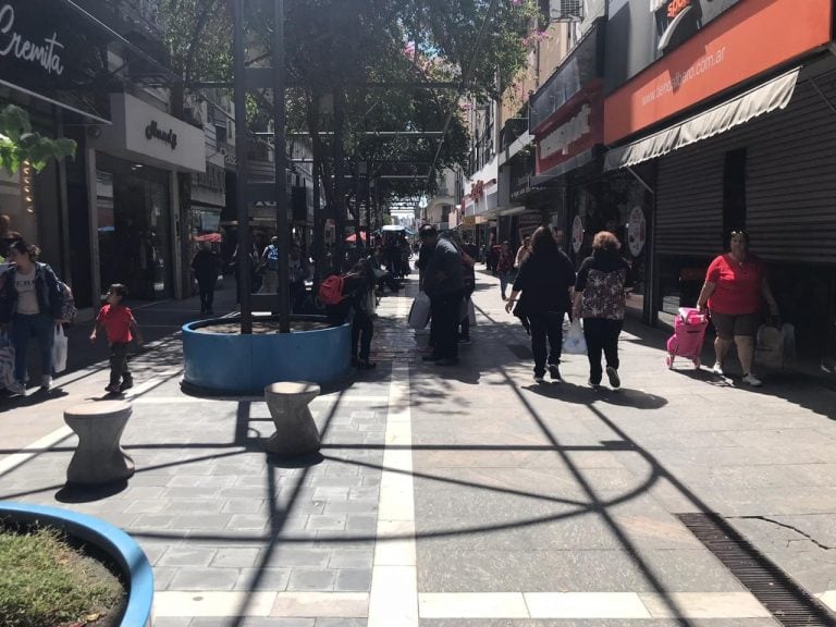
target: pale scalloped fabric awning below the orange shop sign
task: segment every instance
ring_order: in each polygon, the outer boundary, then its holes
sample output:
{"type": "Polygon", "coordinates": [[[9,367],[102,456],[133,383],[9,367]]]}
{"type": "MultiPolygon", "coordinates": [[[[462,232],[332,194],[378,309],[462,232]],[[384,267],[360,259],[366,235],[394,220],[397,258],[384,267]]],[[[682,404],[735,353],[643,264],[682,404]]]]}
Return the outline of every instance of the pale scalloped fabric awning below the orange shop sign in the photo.
{"type": "Polygon", "coordinates": [[[725,133],[764,113],[785,109],[792,98],[800,72],[801,67],[796,67],[679,124],[610,150],[604,159],[604,171],[629,168],[656,159],[678,148],[725,133]]]}

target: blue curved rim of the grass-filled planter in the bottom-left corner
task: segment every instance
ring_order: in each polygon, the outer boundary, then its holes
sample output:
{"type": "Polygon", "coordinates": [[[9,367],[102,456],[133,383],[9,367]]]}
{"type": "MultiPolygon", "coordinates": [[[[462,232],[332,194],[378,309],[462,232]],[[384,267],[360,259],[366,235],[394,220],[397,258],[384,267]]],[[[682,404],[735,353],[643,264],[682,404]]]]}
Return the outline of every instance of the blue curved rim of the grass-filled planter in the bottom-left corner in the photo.
{"type": "Polygon", "coordinates": [[[151,624],[153,571],[143,550],[122,529],[70,509],[8,501],[0,503],[0,517],[19,522],[37,521],[101,549],[119,565],[127,582],[127,605],[120,627],[151,624]]]}

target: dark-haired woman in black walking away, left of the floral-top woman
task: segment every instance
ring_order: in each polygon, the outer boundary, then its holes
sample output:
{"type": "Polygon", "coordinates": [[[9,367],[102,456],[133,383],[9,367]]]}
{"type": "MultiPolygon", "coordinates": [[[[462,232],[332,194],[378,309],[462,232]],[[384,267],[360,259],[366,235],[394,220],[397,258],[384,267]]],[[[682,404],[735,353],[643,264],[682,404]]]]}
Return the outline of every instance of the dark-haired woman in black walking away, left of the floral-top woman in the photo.
{"type": "Polygon", "coordinates": [[[561,381],[563,317],[569,310],[569,290],[575,284],[575,268],[560,249],[549,226],[540,226],[531,237],[531,255],[519,269],[505,310],[511,311],[521,292],[519,309],[531,324],[531,352],[534,354],[534,381],[542,383],[546,367],[561,381]]]}

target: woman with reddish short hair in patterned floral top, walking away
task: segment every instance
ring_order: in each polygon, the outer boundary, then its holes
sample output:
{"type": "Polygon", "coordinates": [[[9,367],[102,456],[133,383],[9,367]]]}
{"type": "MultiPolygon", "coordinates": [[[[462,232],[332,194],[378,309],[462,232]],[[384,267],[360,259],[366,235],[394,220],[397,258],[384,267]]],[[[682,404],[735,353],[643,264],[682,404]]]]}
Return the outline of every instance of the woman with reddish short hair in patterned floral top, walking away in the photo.
{"type": "Polygon", "coordinates": [[[618,250],[622,243],[608,231],[592,239],[592,256],[580,265],[575,282],[575,317],[583,319],[589,357],[589,384],[601,385],[601,353],[606,357],[606,376],[613,389],[618,377],[618,335],[624,324],[626,287],[632,284],[630,267],[618,250]]]}

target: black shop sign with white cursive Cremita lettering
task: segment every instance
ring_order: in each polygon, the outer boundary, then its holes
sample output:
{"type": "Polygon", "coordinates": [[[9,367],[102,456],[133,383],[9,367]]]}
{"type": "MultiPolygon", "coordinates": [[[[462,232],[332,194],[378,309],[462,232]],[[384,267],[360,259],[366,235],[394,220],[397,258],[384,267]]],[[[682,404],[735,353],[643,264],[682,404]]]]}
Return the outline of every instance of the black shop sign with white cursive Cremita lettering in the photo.
{"type": "Polygon", "coordinates": [[[110,36],[82,22],[70,2],[0,0],[0,83],[97,120],[91,104],[110,36]]]}

